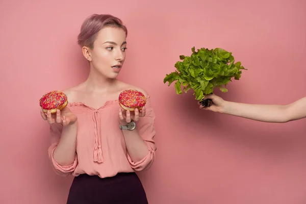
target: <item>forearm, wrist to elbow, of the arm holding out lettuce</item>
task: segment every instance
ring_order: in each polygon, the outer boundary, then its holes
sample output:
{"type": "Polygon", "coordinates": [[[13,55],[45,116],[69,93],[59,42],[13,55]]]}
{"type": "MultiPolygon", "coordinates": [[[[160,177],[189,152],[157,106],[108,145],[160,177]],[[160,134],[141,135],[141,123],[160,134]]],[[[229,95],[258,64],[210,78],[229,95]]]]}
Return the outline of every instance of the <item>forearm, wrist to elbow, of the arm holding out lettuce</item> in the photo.
{"type": "Polygon", "coordinates": [[[263,122],[281,123],[290,120],[287,110],[288,106],[282,105],[242,104],[226,101],[223,113],[263,122]]]}

